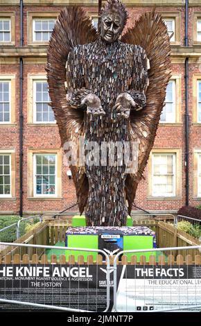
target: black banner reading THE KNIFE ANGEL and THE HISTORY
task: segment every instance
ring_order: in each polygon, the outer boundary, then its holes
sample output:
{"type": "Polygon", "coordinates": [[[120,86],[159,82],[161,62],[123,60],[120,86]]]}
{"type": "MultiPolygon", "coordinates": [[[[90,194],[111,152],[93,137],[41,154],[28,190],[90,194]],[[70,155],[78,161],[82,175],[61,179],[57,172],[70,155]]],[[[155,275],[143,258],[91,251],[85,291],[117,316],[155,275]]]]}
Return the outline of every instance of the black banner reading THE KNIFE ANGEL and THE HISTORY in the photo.
{"type": "MultiPolygon", "coordinates": [[[[107,307],[106,267],[93,265],[0,265],[0,298],[37,304],[51,304],[87,311],[107,307]]],[[[36,307],[0,304],[0,311],[30,310],[36,307]]],[[[42,308],[38,308],[42,309],[42,308]]]]}

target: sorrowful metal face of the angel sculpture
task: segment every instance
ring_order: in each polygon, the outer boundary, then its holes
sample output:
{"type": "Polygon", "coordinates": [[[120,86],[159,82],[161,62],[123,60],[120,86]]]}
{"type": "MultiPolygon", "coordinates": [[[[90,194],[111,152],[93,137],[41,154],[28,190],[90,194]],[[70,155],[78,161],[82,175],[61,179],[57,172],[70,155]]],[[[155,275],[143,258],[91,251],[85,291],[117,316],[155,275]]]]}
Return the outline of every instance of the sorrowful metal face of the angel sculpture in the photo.
{"type": "Polygon", "coordinates": [[[123,19],[116,13],[108,13],[101,19],[100,37],[107,43],[116,41],[123,31],[123,19]]]}

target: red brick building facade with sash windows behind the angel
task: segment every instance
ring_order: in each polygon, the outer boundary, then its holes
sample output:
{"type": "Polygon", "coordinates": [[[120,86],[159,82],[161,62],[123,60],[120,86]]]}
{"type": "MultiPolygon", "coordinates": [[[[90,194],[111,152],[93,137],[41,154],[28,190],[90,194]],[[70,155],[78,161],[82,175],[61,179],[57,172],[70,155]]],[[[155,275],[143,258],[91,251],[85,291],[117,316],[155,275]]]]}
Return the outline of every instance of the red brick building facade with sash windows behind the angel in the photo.
{"type": "MultiPolygon", "coordinates": [[[[76,203],[67,176],[58,127],[46,91],[46,50],[60,9],[79,4],[97,21],[98,1],[0,0],[0,214],[19,214],[20,60],[23,62],[23,212],[60,212],[76,203]]],[[[150,160],[135,203],[150,212],[176,212],[186,203],[185,61],[189,58],[189,205],[201,202],[201,4],[189,0],[188,46],[185,1],[128,0],[128,26],[153,5],[168,25],[172,78],[150,160]],[[200,92],[199,92],[200,91],[200,92]]],[[[75,207],[74,209],[77,209],[75,207]]]]}

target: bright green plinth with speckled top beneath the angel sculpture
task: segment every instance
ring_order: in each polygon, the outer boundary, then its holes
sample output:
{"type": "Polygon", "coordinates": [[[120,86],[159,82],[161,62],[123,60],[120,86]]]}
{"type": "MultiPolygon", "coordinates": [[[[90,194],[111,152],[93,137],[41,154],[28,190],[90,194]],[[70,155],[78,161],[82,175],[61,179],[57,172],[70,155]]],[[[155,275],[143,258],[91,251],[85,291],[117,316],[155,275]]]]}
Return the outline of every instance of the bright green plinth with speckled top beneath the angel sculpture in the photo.
{"type": "MultiPolygon", "coordinates": [[[[146,226],[136,227],[69,227],[66,232],[66,247],[73,248],[89,248],[104,250],[107,255],[116,255],[121,250],[139,250],[155,248],[155,232],[146,226]]],[[[97,259],[97,252],[66,250],[66,257],[74,255],[78,260],[78,256],[92,255],[94,261],[97,259]]],[[[150,255],[155,252],[136,252],[126,254],[128,261],[132,255],[136,255],[139,261],[141,255],[149,259],[150,255]]],[[[103,259],[105,256],[103,255],[103,259]]]]}

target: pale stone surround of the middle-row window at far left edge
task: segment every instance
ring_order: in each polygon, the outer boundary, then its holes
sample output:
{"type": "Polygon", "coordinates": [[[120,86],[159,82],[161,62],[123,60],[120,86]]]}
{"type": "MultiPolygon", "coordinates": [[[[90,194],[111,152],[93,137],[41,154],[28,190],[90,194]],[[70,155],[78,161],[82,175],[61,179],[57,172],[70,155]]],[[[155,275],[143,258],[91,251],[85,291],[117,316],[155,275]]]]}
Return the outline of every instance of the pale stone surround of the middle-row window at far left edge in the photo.
{"type": "Polygon", "coordinates": [[[0,74],[0,82],[9,82],[9,121],[0,121],[0,128],[3,126],[13,126],[15,125],[15,74],[0,74]]]}

